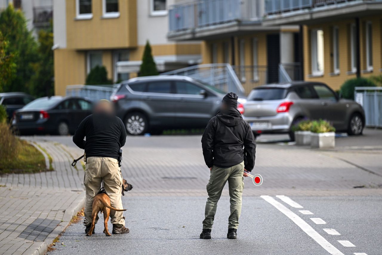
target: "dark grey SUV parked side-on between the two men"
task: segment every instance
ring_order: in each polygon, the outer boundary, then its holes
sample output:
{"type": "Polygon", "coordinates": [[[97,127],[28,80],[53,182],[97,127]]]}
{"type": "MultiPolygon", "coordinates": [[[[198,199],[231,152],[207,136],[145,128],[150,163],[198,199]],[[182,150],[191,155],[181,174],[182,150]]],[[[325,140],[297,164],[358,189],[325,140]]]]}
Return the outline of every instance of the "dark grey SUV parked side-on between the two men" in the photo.
{"type": "Polygon", "coordinates": [[[131,135],[204,128],[225,92],[186,76],[146,76],[122,82],[110,99],[131,135]]]}

